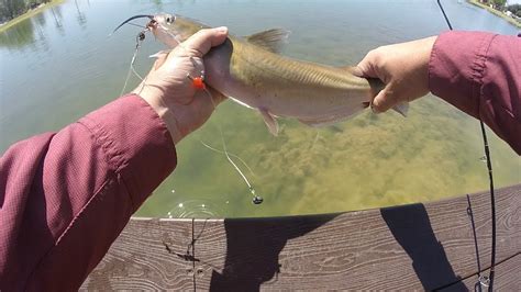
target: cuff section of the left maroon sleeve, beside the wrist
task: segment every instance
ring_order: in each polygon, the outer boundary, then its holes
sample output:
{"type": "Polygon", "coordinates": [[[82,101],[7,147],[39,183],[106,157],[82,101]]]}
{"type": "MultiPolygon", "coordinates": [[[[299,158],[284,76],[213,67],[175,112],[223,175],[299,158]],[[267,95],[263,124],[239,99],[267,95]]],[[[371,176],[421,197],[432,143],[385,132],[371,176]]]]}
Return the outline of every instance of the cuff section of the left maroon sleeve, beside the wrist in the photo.
{"type": "Polygon", "coordinates": [[[177,164],[166,124],[138,96],[122,97],[79,123],[92,132],[107,154],[109,167],[125,182],[133,212],[177,164]]]}

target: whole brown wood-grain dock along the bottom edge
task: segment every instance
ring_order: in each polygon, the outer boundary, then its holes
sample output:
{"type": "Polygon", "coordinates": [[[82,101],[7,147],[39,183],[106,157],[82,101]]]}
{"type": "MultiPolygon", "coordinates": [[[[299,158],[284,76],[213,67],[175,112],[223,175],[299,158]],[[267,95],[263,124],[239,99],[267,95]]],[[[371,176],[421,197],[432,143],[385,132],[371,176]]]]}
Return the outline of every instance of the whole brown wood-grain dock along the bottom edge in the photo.
{"type": "MultiPolygon", "coordinates": [[[[495,290],[521,291],[521,184],[497,190],[495,290]]],[[[133,218],[88,290],[474,290],[488,192],[324,215],[133,218]],[[474,227],[473,227],[474,226],[474,227]]]]}

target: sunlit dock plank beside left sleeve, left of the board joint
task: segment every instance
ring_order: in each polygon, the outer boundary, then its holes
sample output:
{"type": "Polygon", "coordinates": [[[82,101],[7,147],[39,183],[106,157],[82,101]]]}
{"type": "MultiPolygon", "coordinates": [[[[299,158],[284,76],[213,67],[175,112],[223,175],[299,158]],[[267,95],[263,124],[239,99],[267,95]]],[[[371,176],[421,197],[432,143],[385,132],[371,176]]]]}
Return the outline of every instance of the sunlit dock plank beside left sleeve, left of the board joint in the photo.
{"type": "Polygon", "coordinates": [[[191,220],[133,218],[80,290],[193,290],[191,220]],[[168,246],[168,248],[167,248],[168,246]]]}

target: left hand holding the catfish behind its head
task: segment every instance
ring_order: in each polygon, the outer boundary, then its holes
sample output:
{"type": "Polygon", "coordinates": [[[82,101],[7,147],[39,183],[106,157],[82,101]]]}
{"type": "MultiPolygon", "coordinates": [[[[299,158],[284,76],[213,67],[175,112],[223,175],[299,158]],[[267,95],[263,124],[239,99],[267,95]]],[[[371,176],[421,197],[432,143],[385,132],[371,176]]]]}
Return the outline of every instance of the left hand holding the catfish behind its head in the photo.
{"type": "Polygon", "coordinates": [[[226,27],[199,31],[169,54],[160,54],[147,77],[132,91],[165,121],[174,144],[200,127],[224,100],[209,87],[208,91],[195,88],[187,74],[200,77],[204,70],[202,57],[226,36],[226,27]]]}

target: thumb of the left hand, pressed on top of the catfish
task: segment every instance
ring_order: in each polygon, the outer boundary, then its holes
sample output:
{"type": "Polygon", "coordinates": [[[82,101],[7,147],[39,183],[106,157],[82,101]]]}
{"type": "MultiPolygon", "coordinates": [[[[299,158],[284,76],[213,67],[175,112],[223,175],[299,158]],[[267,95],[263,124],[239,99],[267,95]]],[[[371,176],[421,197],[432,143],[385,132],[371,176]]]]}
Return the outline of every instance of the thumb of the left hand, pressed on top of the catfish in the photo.
{"type": "MultiPolygon", "coordinates": [[[[190,36],[182,45],[190,49],[206,55],[210,48],[218,46],[228,37],[228,27],[221,26],[217,29],[200,30],[190,36]]],[[[202,56],[195,56],[202,57],[202,56]]]]}

